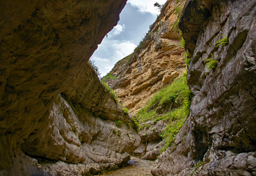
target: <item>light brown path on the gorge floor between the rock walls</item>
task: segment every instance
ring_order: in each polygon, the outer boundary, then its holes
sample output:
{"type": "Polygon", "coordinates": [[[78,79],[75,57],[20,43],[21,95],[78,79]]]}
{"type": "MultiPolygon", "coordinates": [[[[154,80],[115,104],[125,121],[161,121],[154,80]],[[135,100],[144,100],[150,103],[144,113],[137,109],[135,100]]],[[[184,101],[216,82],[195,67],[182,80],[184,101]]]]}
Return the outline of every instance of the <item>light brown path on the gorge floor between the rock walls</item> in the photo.
{"type": "Polygon", "coordinates": [[[154,167],[154,162],[139,159],[138,157],[131,157],[131,162],[136,165],[126,166],[119,168],[118,170],[105,171],[101,175],[103,176],[145,176],[152,175],[150,170],[154,167]],[[134,163],[135,162],[135,163],[134,163]]]}

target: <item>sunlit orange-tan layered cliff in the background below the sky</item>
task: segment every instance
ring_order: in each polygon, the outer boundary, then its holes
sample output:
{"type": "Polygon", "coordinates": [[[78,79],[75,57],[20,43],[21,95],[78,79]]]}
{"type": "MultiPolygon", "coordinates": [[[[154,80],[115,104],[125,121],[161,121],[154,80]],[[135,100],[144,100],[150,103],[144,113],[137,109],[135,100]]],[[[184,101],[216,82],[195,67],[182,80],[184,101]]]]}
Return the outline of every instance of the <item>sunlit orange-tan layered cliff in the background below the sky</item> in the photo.
{"type": "Polygon", "coordinates": [[[183,5],[167,1],[140,46],[111,70],[117,79],[106,79],[130,113],[136,114],[159,89],[185,72],[184,48],[174,27],[183,5]]]}

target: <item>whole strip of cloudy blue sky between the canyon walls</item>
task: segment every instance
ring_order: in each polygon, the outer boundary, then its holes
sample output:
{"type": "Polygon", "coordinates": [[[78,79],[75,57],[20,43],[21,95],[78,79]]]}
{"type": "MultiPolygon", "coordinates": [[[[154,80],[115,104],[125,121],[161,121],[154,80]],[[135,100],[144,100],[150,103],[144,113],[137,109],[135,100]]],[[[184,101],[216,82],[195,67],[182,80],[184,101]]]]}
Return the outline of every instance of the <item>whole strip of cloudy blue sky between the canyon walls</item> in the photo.
{"type": "Polygon", "coordinates": [[[128,0],[120,14],[117,26],[107,34],[91,57],[103,77],[120,59],[134,52],[144,38],[149,26],[160,13],[154,3],[164,4],[167,0],[128,0]]]}

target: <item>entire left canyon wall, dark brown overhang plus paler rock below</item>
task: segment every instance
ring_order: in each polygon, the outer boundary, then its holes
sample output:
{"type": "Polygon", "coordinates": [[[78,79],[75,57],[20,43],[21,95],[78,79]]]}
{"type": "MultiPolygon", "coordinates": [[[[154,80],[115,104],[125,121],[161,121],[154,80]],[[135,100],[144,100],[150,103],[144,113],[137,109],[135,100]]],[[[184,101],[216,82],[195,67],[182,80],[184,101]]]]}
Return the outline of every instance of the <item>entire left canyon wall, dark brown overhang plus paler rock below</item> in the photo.
{"type": "Polygon", "coordinates": [[[0,175],[86,175],[129,159],[140,138],[87,65],[125,3],[0,2],[0,175]]]}

